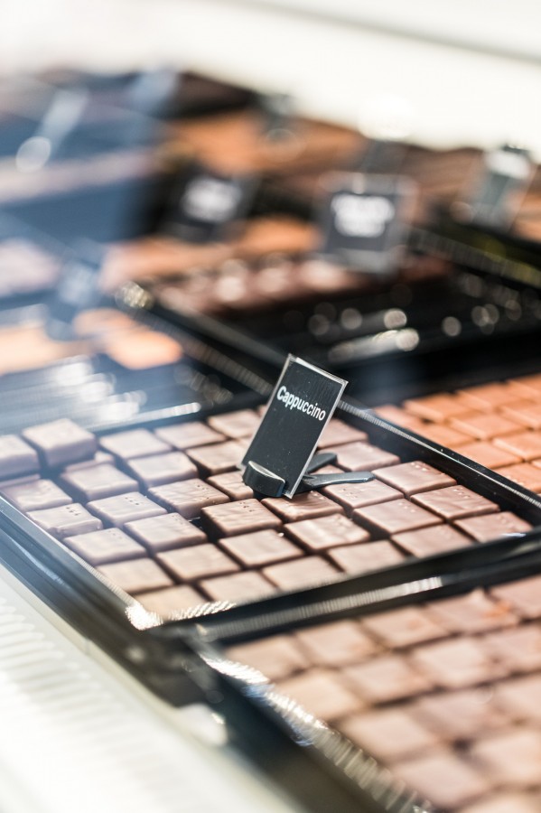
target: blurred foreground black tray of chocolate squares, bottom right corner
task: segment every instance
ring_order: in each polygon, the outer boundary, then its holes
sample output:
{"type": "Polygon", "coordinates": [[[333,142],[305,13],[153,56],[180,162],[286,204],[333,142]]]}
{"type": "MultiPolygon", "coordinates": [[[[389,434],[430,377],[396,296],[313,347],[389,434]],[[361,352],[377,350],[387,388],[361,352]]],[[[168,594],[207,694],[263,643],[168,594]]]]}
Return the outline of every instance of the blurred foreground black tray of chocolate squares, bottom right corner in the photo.
{"type": "Polygon", "coordinates": [[[314,813],[533,813],[538,542],[487,563],[462,561],[453,583],[410,572],[316,624],[308,611],[274,629],[203,630],[210,702],[314,813]]]}

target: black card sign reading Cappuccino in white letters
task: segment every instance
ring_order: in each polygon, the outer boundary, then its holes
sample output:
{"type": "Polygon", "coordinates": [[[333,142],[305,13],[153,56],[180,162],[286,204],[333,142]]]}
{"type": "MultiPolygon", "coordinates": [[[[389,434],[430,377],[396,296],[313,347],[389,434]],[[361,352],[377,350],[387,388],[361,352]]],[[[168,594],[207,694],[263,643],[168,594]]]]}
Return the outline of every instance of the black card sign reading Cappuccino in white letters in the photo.
{"type": "Polygon", "coordinates": [[[289,356],[242,464],[281,478],[280,492],[293,497],[346,384],[289,356]]]}

